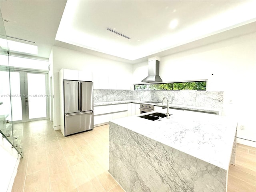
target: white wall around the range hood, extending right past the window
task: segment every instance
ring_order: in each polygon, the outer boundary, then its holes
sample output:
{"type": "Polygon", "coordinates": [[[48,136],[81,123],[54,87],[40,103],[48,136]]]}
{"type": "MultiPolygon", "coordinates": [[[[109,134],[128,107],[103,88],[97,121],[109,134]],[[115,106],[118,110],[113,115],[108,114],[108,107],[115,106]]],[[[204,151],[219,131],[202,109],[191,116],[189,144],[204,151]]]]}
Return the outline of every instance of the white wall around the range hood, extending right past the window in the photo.
{"type": "MultiPolygon", "coordinates": [[[[147,68],[147,62],[134,65],[133,83],[147,76],[147,68]]],[[[223,114],[237,119],[237,136],[256,142],[255,32],[162,57],[160,77],[163,82],[207,79],[207,90],[224,91],[223,114]]]]}

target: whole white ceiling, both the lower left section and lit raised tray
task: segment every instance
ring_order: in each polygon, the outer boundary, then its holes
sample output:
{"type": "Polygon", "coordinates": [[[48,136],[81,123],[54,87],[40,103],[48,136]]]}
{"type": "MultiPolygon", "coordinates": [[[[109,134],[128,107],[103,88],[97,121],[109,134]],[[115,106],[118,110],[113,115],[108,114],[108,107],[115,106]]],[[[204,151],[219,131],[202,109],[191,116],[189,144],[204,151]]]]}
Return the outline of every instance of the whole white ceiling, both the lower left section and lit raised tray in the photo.
{"type": "Polygon", "coordinates": [[[247,24],[250,28],[244,29],[252,30],[255,7],[256,1],[245,0],[0,1],[2,16],[10,21],[4,23],[7,35],[36,42],[39,57],[48,58],[57,45],[127,62],[174,52],[202,38],[220,38],[223,32],[240,34],[236,28],[247,24]],[[169,27],[172,20],[178,21],[176,28],[169,27]]]}

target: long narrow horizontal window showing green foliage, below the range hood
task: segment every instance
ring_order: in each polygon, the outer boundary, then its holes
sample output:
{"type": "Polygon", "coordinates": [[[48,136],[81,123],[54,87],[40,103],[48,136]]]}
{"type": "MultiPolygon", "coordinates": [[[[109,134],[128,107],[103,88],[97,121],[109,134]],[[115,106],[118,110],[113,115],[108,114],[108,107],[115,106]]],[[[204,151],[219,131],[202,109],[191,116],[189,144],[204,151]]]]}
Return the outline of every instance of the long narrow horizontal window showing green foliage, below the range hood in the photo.
{"type": "Polygon", "coordinates": [[[206,81],[138,84],[134,90],[206,90],[206,81]]]}

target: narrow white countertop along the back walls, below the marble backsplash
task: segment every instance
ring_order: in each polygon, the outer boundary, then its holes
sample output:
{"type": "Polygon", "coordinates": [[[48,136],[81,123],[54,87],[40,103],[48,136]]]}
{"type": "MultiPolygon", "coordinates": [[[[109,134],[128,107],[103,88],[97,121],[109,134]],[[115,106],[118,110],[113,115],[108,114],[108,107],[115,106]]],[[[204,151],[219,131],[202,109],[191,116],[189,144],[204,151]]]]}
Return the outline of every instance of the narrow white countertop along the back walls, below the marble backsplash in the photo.
{"type": "MultiPolygon", "coordinates": [[[[141,104],[141,103],[144,103],[144,102],[138,101],[138,100],[96,102],[96,103],[94,103],[94,106],[114,105],[114,104],[124,104],[124,103],[141,104]]],[[[144,104],[150,104],[150,103],[144,103],[144,104]]],[[[152,104],[152,105],[160,106],[160,107],[167,107],[166,103],[164,103],[163,105],[162,105],[162,103],[157,103],[157,104],[152,104]]],[[[169,107],[170,108],[184,109],[184,110],[195,110],[195,111],[202,111],[202,112],[212,112],[212,113],[216,113],[216,114],[221,114],[221,112],[222,112],[222,109],[218,109],[218,108],[188,106],[188,105],[180,105],[180,104],[170,104],[169,107]]]]}

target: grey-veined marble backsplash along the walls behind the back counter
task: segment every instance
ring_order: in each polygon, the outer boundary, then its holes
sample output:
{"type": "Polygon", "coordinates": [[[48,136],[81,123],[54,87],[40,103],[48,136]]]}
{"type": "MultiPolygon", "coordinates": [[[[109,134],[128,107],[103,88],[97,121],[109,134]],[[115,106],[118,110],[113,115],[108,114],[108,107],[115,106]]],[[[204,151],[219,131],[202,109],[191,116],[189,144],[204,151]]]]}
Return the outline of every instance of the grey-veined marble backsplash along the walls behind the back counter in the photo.
{"type": "Polygon", "coordinates": [[[222,108],[223,92],[218,91],[134,91],[134,90],[94,90],[94,102],[124,100],[162,102],[166,97],[170,104],[222,108]]]}

